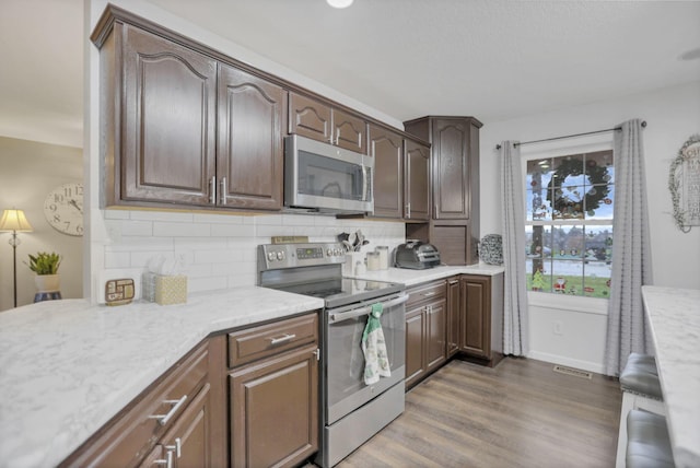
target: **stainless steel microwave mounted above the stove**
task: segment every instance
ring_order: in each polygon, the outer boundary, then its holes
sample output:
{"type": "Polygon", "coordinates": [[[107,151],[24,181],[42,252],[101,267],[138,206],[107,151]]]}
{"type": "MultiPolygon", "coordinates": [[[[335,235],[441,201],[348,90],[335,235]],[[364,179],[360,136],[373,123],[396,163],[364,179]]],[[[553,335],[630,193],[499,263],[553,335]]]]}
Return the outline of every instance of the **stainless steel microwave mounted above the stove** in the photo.
{"type": "Polygon", "coordinates": [[[284,206],[372,213],[374,157],[299,134],[284,138],[284,206]]]}

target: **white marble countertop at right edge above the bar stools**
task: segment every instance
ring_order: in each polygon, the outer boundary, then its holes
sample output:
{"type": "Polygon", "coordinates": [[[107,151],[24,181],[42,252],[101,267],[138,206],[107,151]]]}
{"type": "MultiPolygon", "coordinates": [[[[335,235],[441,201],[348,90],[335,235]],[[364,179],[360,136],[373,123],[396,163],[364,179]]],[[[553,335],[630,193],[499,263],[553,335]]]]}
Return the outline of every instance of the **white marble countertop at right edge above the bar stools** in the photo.
{"type": "Polygon", "coordinates": [[[700,290],[642,286],[674,461],[700,467],[700,290]]]}

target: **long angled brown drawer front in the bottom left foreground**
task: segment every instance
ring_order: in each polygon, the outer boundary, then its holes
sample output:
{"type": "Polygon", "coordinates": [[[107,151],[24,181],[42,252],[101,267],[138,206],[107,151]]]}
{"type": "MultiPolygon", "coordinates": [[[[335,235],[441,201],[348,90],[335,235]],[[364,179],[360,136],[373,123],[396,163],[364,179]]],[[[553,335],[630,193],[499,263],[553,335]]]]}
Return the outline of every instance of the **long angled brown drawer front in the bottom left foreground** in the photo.
{"type": "Polygon", "coordinates": [[[139,464],[205,386],[208,365],[208,343],[205,342],[175,364],[60,466],[126,467],[139,464]]]}

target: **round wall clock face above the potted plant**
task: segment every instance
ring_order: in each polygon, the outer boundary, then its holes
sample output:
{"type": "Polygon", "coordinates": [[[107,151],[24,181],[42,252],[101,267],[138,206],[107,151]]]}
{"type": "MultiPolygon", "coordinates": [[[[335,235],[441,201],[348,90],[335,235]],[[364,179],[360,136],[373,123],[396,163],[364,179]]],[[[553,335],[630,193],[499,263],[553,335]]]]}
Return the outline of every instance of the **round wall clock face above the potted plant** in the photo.
{"type": "Polygon", "coordinates": [[[83,235],[83,185],[63,184],[44,200],[46,221],[58,232],[83,235]]]}

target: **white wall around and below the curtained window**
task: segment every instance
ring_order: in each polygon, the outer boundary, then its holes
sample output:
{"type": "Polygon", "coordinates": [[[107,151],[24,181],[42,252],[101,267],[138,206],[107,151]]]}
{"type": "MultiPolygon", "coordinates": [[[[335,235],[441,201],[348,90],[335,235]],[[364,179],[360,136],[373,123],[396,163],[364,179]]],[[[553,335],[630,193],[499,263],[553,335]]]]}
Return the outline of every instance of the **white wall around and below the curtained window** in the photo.
{"type": "MultiPolygon", "coordinates": [[[[700,132],[699,103],[700,82],[693,82],[586,106],[486,122],[481,129],[481,235],[501,233],[498,143],[595,131],[640,118],[649,124],[644,130],[644,163],[654,284],[700,288],[700,229],[695,227],[688,234],[676,229],[667,188],[670,162],[688,137],[700,132]]],[[[607,320],[605,302],[538,293],[529,293],[529,297],[530,355],[600,372],[607,320]]]]}

